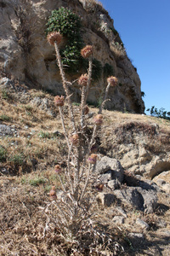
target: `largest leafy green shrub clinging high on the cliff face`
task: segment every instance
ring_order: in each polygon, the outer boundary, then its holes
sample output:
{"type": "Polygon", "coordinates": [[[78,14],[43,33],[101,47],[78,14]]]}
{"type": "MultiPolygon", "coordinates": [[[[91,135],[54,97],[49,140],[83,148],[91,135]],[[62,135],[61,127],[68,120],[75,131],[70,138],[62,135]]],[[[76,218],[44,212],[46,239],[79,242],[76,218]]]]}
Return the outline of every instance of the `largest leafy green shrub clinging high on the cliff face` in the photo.
{"type": "Polygon", "coordinates": [[[82,23],[78,15],[61,7],[52,11],[48,18],[46,33],[60,32],[66,38],[65,48],[60,49],[62,62],[69,72],[78,72],[82,66],[82,23]]]}

